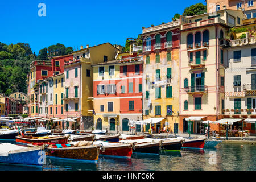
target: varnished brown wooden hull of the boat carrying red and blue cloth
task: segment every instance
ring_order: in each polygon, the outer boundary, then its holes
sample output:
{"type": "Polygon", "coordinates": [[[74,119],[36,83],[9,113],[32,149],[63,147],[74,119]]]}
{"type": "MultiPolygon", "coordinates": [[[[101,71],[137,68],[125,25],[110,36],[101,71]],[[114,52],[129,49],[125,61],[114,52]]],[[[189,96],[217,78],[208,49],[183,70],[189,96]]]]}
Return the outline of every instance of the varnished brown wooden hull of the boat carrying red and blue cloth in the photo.
{"type": "Polygon", "coordinates": [[[46,155],[55,158],[80,160],[84,162],[97,163],[100,154],[100,146],[81,146],[51,148],[48,147],[46,155]]]}

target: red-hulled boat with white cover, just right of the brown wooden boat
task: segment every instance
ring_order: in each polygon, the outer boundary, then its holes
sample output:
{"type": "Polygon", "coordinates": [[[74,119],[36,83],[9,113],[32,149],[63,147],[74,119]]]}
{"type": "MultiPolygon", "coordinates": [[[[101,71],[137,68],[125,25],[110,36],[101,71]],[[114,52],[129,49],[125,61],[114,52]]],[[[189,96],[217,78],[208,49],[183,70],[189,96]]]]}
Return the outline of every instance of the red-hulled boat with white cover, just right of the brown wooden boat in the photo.
{"type": "Polygon", "coordinates": [[[100,155],[115,158],[131,158],[133,145],[130,143],[96,141],[93,144],[101,146],[100,155]]]}

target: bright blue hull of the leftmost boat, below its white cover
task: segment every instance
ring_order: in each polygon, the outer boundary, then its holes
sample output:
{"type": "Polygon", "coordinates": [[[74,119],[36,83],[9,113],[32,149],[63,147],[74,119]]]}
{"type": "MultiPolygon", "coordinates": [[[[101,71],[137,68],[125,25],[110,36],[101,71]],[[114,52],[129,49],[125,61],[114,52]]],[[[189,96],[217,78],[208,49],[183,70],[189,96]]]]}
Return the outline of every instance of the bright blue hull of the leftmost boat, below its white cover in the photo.
{"type": "Polygon", "coordinates": [[[42,166],[42,153],[40,154],[39,152],[42,151],[32,150],[26,152],[9,153],[8,156],[0,156],[0,163],[42,166]]]}

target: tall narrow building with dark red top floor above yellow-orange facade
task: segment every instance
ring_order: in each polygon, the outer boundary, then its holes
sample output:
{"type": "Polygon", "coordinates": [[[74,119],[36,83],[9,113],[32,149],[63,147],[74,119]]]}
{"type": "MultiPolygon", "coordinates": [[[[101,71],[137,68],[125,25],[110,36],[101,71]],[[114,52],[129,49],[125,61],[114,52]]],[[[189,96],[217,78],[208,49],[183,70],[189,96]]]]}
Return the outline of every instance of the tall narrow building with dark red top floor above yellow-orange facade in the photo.
{"type": "MultiPolygon", "coordinates": [[[[143,119],[162,119],[155,123],[155,132],[168,128],[173,133],[179,124],[179,28],[177,20],[143,28],[141,34],[143,119]]],[[[149,127],[146,126],[146,131],[149,127]]]]}

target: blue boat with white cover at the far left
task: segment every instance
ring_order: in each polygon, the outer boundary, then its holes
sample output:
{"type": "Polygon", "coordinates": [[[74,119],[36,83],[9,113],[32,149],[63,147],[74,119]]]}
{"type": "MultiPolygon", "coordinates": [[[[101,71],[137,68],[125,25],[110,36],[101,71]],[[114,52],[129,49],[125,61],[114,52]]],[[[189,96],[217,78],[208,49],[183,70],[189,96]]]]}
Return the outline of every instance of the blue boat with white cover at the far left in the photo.
{"type": "Polygon", "coordinates": [[[0,144],[0,163],[42,167],[44,162],[45,153],[40,148],[23,147],[11,143],[0,144]]]}

